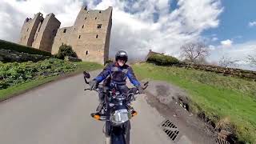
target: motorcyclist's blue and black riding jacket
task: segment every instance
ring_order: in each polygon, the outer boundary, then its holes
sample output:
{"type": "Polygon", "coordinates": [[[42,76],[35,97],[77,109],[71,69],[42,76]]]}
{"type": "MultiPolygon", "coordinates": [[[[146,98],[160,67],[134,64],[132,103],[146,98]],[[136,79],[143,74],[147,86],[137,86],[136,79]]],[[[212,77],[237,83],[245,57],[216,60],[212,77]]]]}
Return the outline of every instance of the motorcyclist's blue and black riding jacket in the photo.
{"type": "Polygon", "coordinates": [[[110,85],[117,84],[117,85],[126,85],[126,78],[128,77],[130,82],[138,87],[140,86],[140,82],[138,82],[137,78],[134,75],[134,71],[128,65],[118,66],[117,63],[112,62],[108,66],[102,70],[100,74],[94,80],[98,83],[102,82],[110,75],[110,85]]]}

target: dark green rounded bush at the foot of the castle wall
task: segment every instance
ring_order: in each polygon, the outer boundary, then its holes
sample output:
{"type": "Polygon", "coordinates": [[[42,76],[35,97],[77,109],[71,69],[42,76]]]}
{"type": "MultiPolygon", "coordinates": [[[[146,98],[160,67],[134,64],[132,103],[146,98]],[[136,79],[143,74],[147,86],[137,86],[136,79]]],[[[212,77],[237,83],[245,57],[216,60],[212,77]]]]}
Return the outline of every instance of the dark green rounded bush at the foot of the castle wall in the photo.
{"type": "Polygon", "coordinates": [[[62,45],[59,46],[58,54],[56,55],[59,59],[64,59],[65,56],[78,58],[78,55],[72,50],[72,46],[62,45]]]}

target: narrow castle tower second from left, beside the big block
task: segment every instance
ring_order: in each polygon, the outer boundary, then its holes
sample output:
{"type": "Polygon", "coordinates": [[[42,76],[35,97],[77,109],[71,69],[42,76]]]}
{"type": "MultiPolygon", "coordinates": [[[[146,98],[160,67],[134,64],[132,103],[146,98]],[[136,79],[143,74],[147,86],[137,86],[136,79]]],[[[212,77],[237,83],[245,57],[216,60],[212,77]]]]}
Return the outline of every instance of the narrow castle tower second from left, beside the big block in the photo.
{"type": "Polygon", "coordinates": [[[54,43],[54,37],[58,31],[61,22],[55,18],[54,14],[47,14],[43,22],[40,22],[38,29],[34,34],[33,47],[39,50],[51,52],[52,45],[54,43]]]}

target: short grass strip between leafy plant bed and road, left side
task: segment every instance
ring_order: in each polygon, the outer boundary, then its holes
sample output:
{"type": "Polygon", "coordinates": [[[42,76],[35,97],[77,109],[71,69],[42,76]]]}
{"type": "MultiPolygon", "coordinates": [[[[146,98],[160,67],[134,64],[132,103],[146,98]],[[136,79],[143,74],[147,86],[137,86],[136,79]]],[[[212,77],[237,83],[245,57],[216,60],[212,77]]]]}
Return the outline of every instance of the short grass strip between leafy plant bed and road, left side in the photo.
{"type": "MultiPolygon", "coordinates": [[[[90,71],[90,70],[97,70],[102,68],[102,65],[99,65],[94,62],[74,62],[74,64],[77,66],[77,68],[74,71],[69,71],[65,74],[78,74],[78,73],[81,73],[83,70],[90,71]]],[[[60,75],[54,75],[50,77],[39,77],[39,78],[30,80],[29,82],[21,82],[14,86],[8,87],[7,89],[0,90],[0,102],[2,100],[10,98],[14,94],[20,94],[22,92],[25,92],[26,90],[30,90],[34,87],[40,86],[47,82],[54,81],[60,77],[61,77],[60,75]]]]}

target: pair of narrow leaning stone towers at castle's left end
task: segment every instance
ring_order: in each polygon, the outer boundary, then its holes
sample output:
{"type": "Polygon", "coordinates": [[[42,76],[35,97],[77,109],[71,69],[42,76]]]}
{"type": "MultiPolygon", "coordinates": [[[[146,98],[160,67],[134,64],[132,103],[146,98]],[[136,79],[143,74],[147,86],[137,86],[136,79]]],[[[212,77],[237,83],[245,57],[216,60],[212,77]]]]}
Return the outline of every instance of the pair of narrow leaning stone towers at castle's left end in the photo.
{"type": "Polygon", "coordinates": [[[46,18],[43,18],[42,14],[38,13],[33,19],[26,18],[19,44],[51,52],[54,37],[60,25],[61,22],[55,18],[54,14],[47,14],[46,18]]]}

